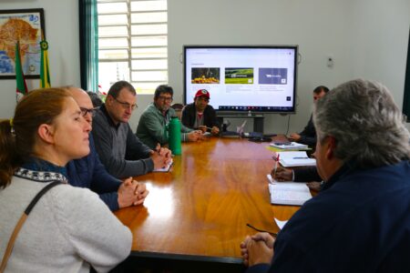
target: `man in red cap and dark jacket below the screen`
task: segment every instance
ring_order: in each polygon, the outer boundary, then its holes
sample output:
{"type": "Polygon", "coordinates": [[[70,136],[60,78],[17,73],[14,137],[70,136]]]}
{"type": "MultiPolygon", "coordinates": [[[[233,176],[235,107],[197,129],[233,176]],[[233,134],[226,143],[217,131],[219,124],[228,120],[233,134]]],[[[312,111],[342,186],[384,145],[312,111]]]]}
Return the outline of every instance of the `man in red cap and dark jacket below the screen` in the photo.
{"type": "Polygon", "coordinates": [[[216,112],[210,103],[210,92],[206,89],[197,91],[194,102],[185,106],[182,110],[182,124],[202,132],[209,131],[212,135],[218,135],[220,128],[216,112]]]}

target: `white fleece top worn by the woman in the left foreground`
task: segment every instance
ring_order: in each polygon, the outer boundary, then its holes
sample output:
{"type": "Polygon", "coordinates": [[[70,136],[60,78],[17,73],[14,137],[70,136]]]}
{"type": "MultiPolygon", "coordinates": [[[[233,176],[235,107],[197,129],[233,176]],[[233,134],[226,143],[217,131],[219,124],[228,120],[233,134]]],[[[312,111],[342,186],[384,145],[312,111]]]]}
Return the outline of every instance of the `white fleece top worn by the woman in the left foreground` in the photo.
{"type": "MultiPolygon", "coordinates": [[[[47,183],[13,177],[0,189],[0,258],[24,210],[47,183]]],[[[128,257],[132,235],[97,194],[58,185],[33,208],[5,272],[108,272],[128,257]]]]}

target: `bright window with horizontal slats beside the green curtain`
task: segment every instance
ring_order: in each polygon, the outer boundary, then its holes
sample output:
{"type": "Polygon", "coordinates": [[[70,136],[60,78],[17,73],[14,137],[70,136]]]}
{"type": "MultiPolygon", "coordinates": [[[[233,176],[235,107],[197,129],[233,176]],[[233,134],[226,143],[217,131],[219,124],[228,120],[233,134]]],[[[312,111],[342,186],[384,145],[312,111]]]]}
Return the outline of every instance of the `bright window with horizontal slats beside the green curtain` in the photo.
{"type": "Polygon", "coordinates": [[[168,83],[167,0],[97,0],[98,84],[118,80],[138,94],[168,83]]]}

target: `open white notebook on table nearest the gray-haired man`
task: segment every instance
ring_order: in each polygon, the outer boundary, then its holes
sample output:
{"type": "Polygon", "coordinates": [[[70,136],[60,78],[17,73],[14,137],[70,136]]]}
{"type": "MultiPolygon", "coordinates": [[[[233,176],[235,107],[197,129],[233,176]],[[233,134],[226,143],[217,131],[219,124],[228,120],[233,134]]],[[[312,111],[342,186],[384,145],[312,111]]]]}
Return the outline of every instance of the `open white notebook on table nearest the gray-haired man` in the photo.
{"type": "Polygon", "coordinates": [[[267,175],[269,180],[269,193],[271,204],[302,206],[312,198],[309,187],[299,182],[278,182],[267,175]]]}

